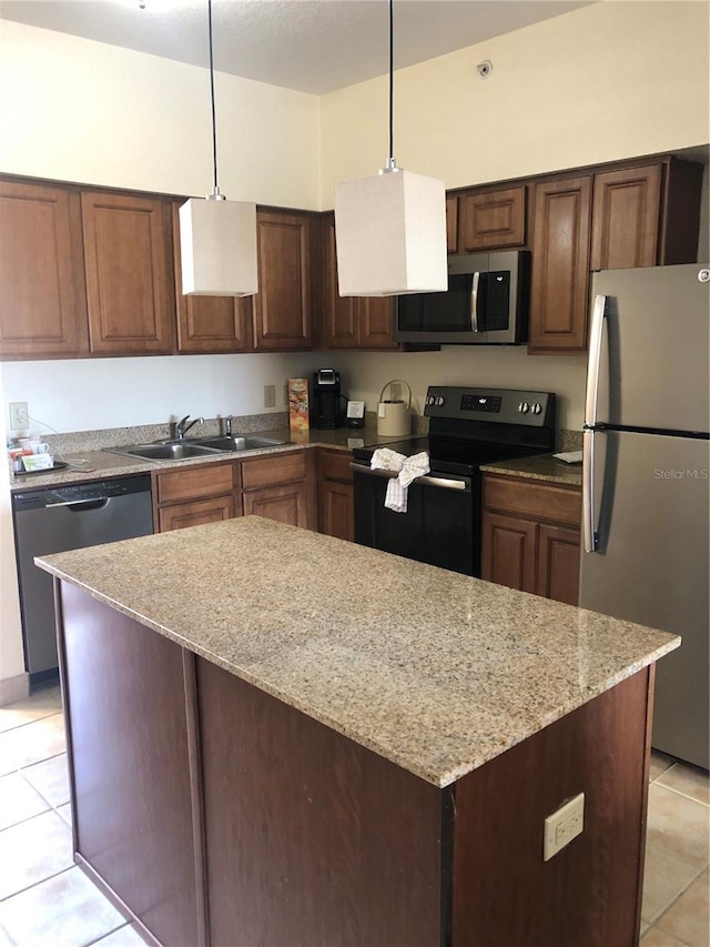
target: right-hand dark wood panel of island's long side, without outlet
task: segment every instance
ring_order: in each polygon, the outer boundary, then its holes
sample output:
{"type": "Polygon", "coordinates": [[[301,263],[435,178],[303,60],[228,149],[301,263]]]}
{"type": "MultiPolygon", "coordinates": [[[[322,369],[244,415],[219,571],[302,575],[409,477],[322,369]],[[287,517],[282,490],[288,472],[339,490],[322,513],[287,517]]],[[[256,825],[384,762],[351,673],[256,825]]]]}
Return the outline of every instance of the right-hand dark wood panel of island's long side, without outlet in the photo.
{"type": "Polygon", "coordinates": [[[212,944],[438,945],[440,790],[201,658],[197,693],[212,944]]]}

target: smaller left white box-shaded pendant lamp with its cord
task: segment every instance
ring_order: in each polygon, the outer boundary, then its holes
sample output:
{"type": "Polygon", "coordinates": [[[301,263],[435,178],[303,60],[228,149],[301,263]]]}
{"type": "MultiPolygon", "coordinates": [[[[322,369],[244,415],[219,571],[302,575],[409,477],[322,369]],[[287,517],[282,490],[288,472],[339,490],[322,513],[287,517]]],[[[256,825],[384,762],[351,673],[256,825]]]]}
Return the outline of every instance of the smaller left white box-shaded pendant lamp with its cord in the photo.
{"type": "Polygon", "coordinates": [[[182,291],[196,296],[250,296],[258,290],[256,205],[227,201],[217,184],[212,0],[207,0],[214,189],[180,208],[182,291]]]}

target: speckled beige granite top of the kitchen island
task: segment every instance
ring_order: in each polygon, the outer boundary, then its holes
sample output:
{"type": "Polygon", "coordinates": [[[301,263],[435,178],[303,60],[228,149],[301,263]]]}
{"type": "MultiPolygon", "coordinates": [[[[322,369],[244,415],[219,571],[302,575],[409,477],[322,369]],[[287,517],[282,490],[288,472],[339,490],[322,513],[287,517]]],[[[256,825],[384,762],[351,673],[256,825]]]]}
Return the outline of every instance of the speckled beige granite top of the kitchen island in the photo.
{"type": "Polygon", "coordinates": [[[37,563],[436,786],[680,643],[256,516],[37,563]]]}

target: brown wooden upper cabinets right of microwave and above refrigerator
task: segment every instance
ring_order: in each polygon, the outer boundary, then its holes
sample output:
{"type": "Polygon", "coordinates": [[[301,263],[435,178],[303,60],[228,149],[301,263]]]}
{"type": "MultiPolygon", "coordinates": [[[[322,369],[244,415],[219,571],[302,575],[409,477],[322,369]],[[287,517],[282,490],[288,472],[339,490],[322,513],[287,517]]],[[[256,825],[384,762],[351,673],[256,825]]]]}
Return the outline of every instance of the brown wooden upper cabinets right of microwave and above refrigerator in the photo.
{"type": "Polygon", "coordinates": [[[697,260],[701,183],[672,157],[537,182],[528,351],[586,350],[590,271],[697,260]]]}

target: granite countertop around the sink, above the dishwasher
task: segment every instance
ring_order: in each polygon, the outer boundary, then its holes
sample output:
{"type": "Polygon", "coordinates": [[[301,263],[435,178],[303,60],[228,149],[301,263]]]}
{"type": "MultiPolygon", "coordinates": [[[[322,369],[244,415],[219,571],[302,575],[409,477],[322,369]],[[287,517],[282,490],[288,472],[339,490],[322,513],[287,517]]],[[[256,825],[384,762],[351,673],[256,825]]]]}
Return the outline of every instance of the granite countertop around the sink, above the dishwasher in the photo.
{"type": "MultiPolygon", "coordinates": [[[[122,454],[111,453],[113,449],[100,451],[81,451],[57,456],[69,463],[69,467],[57,472],[12,475],[10,478],[11,492],[36,490],[42,486],[62,486],[64,484],[83,483],[105,477],[125,476],[130,474],[149,473],[152,470],[173,470],[181,466],[194,464],[215,463],[224,461],[240,461],[262,454],[283,453],[303,447],[331,447],[339,451],[352,451],[353,447],[387,444],[397,437],[379,437],[376,429],[348,429],[341,427],[335,431],[311,431],[303,437],[293,440],[287,427],[277,427],[273,431],[254,432],[260,437],[272,437],[284,441],[276,447],[260,447],[254,451],[235,451],[201,457],[190,457],[184,461],[145,461],[140,457],[129,457],[122,454]]],[[[414,436],[414,435],[413,435],[414,436]]],[[[190,439],[187,439],[190,441],[190,439]]]]}

